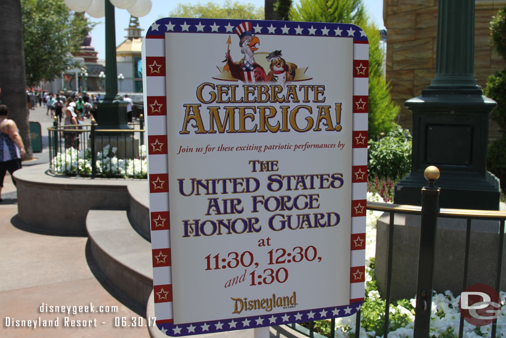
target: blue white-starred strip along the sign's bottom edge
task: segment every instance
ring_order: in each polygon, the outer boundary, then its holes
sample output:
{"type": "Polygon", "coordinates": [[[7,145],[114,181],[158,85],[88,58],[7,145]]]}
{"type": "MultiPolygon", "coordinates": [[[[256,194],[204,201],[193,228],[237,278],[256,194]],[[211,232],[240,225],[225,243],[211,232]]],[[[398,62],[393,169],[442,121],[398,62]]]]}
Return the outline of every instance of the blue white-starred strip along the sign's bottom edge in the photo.
{"type": "Polygon", "coordinates": [[[193,334],[245,330],[255,327],[284,325],[336,317],[348,317],[357,313],[357,311],[360,310],[361,306],[362,302],[357,302],[341,307],[293,311],[279,314],[268,314],[263,316],[257,315],[236,319],[222,319],[185,324],[163,323],[156,324],[156,326],[158,326],[158,329],[166,335],[185,336],[193,334]]]}

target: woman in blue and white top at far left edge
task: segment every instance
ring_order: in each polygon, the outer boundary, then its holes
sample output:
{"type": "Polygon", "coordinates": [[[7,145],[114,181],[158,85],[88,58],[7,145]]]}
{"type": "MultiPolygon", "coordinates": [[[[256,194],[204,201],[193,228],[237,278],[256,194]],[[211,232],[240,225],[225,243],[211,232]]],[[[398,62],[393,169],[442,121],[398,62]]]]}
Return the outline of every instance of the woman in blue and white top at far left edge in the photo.
{"type": "Polygon", "coordinates": [[[21,159],[26,155],[18,126],[8,116],[9,108],[0,104],[0,202],[3,201],[1,196],[6,172],[9,171],[12,182],[16,185],[12,174],[21,169],[21,159]]]}

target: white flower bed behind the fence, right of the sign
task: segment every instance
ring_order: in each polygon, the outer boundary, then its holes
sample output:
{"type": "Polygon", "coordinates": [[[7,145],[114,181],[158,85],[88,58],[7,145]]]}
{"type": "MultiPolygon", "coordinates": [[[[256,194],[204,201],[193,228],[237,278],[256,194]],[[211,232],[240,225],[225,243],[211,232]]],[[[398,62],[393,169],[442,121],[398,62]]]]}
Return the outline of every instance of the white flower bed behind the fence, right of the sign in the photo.
{"type": "MultiPolygon", "coordinates": [[[[373,202],[384,202],[381,196],[378,194],[372,195],[371,193],[367,193],[367,200],[373,202]]],[[[367,211],[367,224],[366,224],[366,251],[365,251],[365,261],[366,261],[366,284],[367,282],[372,281],[373,271],[370,268],[371,260],[375,254],[376,248],[376,221],[377,218],[381,215],[381,212],[378,211],[367,211]]],[[[367,300],[372,301],[371,304],[374,305],[375,301],[381,301],[381,297],[379,296],[379,292],[375,289],[367,289],[367,300]]],[[[504,304],[504,299],[506,297],[506,293],[500,291],[501,303],[504,304]]],[[[432,297],[432,315],[431,315],[431,336],[432,337],[458,337],[458,329],[460,324],[460,311],[458,308],[458,302],[460,299],[460,295],[453,296],[450,291],[446,291],[444,294],[442,293],[434,293],[432,297]]],[[[383,303],[385,304],[385,303],[383,303]]],[[[389,332],[389,338],[410,338],[413,336],[413,328],[414,328],[414,307],[416,304],[416,299],[409,299],[409,309],[403,307],[401,305],[394,306],[390,305],[390,325],[389,327],[398,327],[397,329],[389,332]],[[394,318],[392,318],[394,317],[394,318]],[[399,322],[396,322],[399,321],[399,322]],[[402,322],[402,323],[401,323],[402,322]],[[407,324],[405,324],[407,323],[407,324]],[[402,326],[402,327],[399,327],[402,326]]],[[[380,308],[381,309],[381,308],[380,308]]],[[[385,308],[381,310],[381,313],[385,308]]],[[[371,311],[367,309],[366,306],[362,308],[362,312],[371,311]]],[[[374,310],[372,310],[374,311],[374,310]]],[[[378,320],[381,319],[378,313],[378,320]]],[[[496,328],[496,336],[497,337],[505,337],[506,336],[506,307],[501,308],[501,317],[497,319],[497,328],[496,328]]],[[[363,314],[361,316],[363,319],[363,314]]],[[[355,336],[355,322],[356,322],[356,314],[349,317],[342,317],[335,319],[336,325],[336,337],[354,337],[355,336]]],[[[492,332],[492,324],[486,326],[475,326],[471,325],[468,322],[464,321],[463,327],[463,337],[473,338],[473,337],[489,337],[492,332]]],[[[383,331],[382,331],[383,333],[383,331]]],[[[368,338],[368,337],[383,337],[382,335],[376,335],[376,332],[370,331],[367,332],[363,327],[360,328],[360,337],[368,338]]]]}

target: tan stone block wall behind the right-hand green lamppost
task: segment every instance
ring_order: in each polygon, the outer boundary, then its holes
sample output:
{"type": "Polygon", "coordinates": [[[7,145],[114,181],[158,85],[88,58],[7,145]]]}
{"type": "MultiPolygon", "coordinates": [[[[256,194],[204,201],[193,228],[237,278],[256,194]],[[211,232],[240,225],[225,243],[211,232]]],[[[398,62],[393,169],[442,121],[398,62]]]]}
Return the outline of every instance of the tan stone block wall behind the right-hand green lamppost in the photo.
{"type": "MultiPolygon", "coordinates": [[[[490,20],[506,0],[476,0],[474,74],[483,88],[487,78],[506,64],[490,46],[490,20]]],[[[392,99],[401,107],[399,123],[412,128],[412,116],[404,101],[421,95],[436,71],[438,0],[383,0],[388,30],[387,81],[392,99]]],[[[490,126],[491,136],[496,132],[490,126]]]]}

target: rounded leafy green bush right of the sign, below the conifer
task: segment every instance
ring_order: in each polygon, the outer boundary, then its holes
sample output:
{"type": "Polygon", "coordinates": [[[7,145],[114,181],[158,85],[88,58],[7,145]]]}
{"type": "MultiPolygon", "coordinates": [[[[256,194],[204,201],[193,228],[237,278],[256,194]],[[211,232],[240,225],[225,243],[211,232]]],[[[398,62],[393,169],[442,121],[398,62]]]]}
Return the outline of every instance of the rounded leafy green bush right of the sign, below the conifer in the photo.
{"type": "Polygon", "coordinates": [[[379,138],[369,140],[369,177],[389,177],[392,179],[407,175],[411,170],[411,134],[400,126],[379,138]]]}

